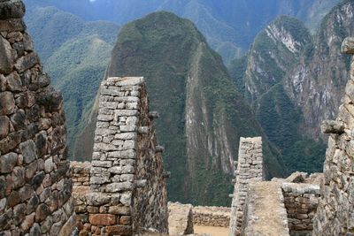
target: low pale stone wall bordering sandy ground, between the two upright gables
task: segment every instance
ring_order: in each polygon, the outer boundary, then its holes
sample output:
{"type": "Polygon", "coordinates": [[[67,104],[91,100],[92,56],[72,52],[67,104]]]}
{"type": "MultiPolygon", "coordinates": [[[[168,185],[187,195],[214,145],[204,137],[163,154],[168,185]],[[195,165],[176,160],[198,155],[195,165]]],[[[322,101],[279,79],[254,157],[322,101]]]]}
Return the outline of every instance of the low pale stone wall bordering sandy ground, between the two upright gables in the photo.
{"type": "Polygon", "coordinates": [[[194,225],[228,227],[231,209],[226,207],[193,207],[194,225]]]}

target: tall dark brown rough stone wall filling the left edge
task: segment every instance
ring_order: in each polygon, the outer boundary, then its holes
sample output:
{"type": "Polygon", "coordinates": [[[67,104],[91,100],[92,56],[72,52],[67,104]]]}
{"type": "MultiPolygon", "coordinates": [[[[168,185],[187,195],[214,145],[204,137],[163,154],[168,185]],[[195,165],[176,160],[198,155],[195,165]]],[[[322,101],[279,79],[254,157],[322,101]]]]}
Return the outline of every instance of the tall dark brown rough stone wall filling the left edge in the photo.
{"type": "Polygon", "coordinates": [[[62,96],[33,49],[21,1],[0,1],[0,234],[69,235],[62,96]]]}

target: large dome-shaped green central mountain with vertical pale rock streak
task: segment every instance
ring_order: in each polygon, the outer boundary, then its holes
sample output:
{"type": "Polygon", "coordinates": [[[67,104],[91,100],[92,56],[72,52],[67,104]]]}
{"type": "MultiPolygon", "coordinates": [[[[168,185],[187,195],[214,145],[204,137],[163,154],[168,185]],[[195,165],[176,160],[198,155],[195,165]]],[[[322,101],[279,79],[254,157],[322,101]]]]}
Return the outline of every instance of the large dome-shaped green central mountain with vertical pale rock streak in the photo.
{"type": "MultiPolygon", "coordinates": [[[[194,24],[165,11],[127,24],[106,76],[145,77],[150,109],[160,114],[156,127],[166,169],[172,172],[169,199],[227,205],[239,138],[263,132],[221,57],[194,24]]],[[[78,140],[93,137],[94,118],[92,112],[78,140]]],[[[266,136],[264,143],[267,176],[283,175],[277,150],[266,136]]]]}

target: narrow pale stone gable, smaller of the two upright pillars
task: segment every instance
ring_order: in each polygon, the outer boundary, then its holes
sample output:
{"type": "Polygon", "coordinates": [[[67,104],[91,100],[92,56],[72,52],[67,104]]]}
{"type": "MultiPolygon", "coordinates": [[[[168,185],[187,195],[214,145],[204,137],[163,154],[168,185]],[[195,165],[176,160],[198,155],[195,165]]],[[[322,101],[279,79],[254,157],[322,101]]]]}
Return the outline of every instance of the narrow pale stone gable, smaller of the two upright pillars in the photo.
{"type": "Polygon", "coordinates": [[[252,181],[262,181],[263,154],[262,138],[241,138],[235,171],[235,190],[231,205],[230,236],[240,235],[247,188],[252,181]]]}

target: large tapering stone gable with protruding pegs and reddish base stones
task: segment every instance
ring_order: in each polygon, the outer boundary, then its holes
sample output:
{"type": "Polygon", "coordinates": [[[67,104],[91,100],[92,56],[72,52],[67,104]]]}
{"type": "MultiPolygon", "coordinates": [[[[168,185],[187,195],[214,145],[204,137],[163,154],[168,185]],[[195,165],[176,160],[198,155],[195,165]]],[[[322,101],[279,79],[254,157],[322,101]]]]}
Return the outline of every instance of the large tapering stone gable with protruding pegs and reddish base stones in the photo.
{"type": "Polygon", "coordinates": [[[102,82],[92,166],[72,168],[81,235],[168,232],[164,148],[158,146],[154,118],[143,78],[102,82]]]}

